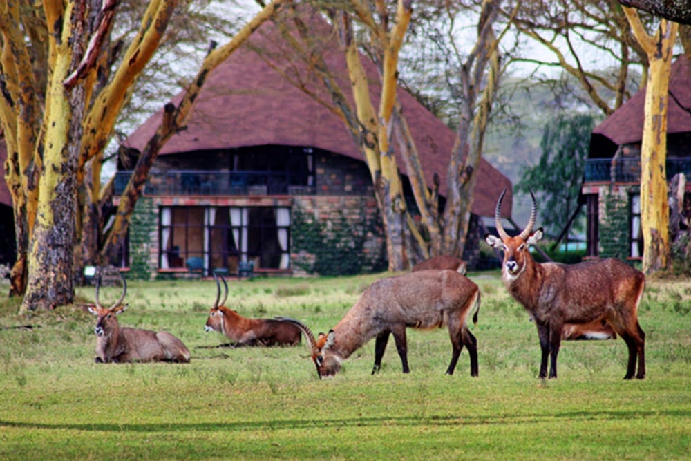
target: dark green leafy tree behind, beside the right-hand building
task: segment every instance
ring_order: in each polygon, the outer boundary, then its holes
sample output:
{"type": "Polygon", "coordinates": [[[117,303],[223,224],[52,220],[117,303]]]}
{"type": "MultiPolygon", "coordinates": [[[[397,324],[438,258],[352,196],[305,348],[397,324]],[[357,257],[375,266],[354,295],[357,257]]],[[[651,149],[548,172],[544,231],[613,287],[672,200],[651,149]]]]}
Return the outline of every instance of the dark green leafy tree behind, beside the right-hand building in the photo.
{"type": "Polygon", "coordinates": [[[578,207],[593,126],[590,115],[560,115],[548,122],[540,141],[540,162],[524,169],[516,185],[517,191],[532,190],[540,196],[540,223],[548,233],[561,232],[578,207]]]}

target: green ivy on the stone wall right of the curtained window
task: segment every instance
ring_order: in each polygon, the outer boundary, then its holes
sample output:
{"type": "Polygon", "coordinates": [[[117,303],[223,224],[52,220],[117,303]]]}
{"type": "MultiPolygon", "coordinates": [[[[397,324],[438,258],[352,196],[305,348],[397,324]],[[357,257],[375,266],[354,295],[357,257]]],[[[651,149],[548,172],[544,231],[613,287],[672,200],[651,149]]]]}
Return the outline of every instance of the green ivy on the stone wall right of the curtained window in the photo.
{"type": "Polygon", "coordinates": [[[324,276],[354,275],[364,265],[373,271],[382,270],[385,261],[365,261],[364,243],[368,234],[378,234],[377,220],[364,215],[359,223],[349,222],[342,211],[328,226],[314,220],[305,211],[294,207],[291,218],[291,248],[298,258],[294,265],[308,274],[324,276]]]}

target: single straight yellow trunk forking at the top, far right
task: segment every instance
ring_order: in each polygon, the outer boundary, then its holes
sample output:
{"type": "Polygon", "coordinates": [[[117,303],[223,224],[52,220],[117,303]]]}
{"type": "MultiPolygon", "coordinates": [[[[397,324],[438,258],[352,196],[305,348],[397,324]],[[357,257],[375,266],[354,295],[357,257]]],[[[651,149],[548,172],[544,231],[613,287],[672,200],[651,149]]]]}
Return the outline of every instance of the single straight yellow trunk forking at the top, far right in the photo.
{"type": "Polygon", "coordinates": [[[632,31],[650,62],[645,86],[645,121],[641,145],[641,227],[643,272],[668,267],[670,259],[667,173],[667,108],[672,48],[678,24],[662,19],[656,35],[643,29],[638,13],[624,8],[632,31]]]}

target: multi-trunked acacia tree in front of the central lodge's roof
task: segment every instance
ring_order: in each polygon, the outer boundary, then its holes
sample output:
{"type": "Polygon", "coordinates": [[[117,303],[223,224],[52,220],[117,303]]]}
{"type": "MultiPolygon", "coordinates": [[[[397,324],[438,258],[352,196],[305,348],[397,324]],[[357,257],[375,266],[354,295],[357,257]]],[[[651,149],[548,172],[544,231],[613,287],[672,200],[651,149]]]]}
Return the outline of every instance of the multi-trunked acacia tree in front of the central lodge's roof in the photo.
{"type": "MultiPolygon", "coordinates": [[[[422,3],[422,2],[421,2],[422,3]]],[[[460,3],[428,2],[440,15],[440,20],[453,21],[464,11],[460,3]]],[[[290,42],[294,56],[302,56],[311,72],[323,83],[330,106],[343,120],[352,138],[361,148],[370,169],[375,194],[383,216],[390,270],[403,270],[417,258],[436,254],[461,256],[468,229],[475,177],[482,155],[484,131],[491,111],[495,88],[501,73],[499,39],[495,36],[500,0],[486,0],[477,13],[477,42],[458,68],[464,106],[458,120],[456,141],[450,153],[447,173],[446,207],[439,213],[439,183],[426,184],[413,137],[397,100],[399,88],[399,55],[404,46],[406,31],[413,15],[413,1],[399,0],[389,9],[384,1],[373,3],[345,0],[324,6],[330,26],[343,50],[350,82],[351,96],[339,85],[339,78],[330,70],[314,34],[301,21],[298,13],[283,19],[283,26],[293,23],[301,42],[285,29],[283,36],[290,42]],[[363,63],[366,54],[377,68],[379,104],[375,106],[370,84],[371,76],[363,63]],[[351,103],[352,101],[352,103],[351,103]],[[422,216],[422,229],[410,215],[403,196],[399,165],[395,148],[404,160],[408,178],[413,186],[415,203],[422,216]]],[[[451,35],[451,32],[450,32],[451,35]]],[[[455,48],[460,55],[460,47],[455,48]]],[[[287,76],[290,77],[290,76],[287,76]]],[[[310,93],[296,78],[299,88],[310,93]]]]}

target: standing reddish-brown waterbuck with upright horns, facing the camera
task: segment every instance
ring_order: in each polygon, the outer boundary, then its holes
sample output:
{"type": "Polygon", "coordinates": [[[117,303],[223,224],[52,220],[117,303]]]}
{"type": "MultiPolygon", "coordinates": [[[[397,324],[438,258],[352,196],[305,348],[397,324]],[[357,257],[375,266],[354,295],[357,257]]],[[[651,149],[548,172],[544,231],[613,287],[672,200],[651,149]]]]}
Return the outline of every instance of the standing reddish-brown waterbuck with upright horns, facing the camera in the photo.
{"type": "Polygon", "coordinates": [[[511,296],[521,303],[538,326],[540,378],[557,377],[557,355],[566,323],[588,323],[605,320],[621,336],[629,349],[624,379],[634,377],[636,355],[638,373],[645,377],[645,333],[638,324],[638,303],[643,296],[645,276],[617,259],[600,259],[578,264],[536,263],[529,246],[542,238],[542,227],[533,232],[537,204],[533,206],[528,225],[518,236],[511,237],[502,227],[500,211],[502,192],[495,210],[499,237],[487,234],[488,245],[504,250],[502,280],[511,296]]]}

